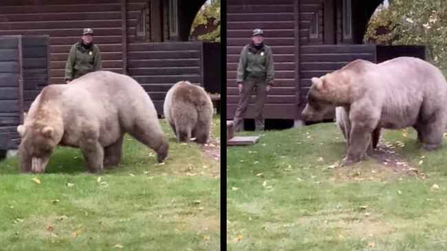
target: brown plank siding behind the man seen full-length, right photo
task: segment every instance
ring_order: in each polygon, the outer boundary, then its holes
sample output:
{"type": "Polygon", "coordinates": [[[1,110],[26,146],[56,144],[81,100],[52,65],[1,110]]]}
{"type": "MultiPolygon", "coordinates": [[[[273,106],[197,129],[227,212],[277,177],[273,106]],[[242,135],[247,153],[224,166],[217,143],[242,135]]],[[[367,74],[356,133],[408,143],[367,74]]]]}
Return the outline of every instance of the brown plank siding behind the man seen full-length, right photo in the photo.
{"type": "MultiPolygon", "coordinates": [[[[250,43],[252,30],[261,28],[265,44],[272,47],[275,85],[265,103],[265,118],[293,118],[296,108],[296,1],[227,1],[227,118],[234,116],[239,91],[236,85],[237,63],[242,47],[250,43]]],[[[252,96],[254,100],[254,96],[252,96]]],[[[247,118],[253,118],[253,106],[247,118]]]]}

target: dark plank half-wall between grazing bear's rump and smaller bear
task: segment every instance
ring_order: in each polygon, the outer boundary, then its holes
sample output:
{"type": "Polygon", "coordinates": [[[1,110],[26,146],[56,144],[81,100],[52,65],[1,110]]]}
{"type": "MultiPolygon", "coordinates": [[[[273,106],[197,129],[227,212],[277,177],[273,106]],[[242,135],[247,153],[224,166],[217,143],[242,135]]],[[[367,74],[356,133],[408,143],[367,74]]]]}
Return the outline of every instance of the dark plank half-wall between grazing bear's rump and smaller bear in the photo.
{"type": "Polygon", "coordinates": [[[129,76],[144,87],[162,114],[166,91],[179,80],[202,85],[202,50],[201,42],[131,43],[129,76]]]}

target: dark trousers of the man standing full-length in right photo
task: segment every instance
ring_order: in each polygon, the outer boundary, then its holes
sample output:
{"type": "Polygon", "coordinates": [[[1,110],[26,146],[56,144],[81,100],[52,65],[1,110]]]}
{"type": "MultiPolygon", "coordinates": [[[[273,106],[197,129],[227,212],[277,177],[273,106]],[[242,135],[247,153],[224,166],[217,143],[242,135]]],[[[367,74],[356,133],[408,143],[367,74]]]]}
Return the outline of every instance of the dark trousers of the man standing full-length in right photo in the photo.
{"type": "Polygon", "coordinates": [[[242,84],[242,91],[239,94],[239,103],[233,119],[235,131],[241,131],[243,127],[243,118],[246,116],[248,104],[250,103],[250,94],[252,90],[256,91],[256,103],[254,105],[254,128],[257,131],[264,130],[263,109],[267,91],[265,90],[265,81],[247,80],[242,84]]]}

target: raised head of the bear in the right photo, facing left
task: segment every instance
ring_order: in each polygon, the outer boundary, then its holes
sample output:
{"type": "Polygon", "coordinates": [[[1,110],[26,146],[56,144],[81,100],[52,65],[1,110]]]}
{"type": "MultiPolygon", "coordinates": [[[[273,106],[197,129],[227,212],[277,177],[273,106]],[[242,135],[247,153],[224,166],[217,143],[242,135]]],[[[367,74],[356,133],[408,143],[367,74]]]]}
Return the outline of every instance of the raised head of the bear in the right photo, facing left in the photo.
{"type": "Polygon", "coordinates": [[[307,94],[307,104],[301,113],[304,120],[323,120],[325,114],[336,107],[335,103],[328,97],[329,81],[325,76],[312,78],[312,86],[307,94]]]}

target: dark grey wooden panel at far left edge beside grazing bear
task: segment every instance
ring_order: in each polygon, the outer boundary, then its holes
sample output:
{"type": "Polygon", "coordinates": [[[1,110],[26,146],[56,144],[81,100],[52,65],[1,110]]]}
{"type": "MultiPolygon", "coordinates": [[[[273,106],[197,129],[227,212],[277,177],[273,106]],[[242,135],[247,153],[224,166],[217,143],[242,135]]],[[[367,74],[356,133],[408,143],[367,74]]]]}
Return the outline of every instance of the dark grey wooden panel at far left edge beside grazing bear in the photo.
{"type": "Polygon", "coordinates": [[[47,85],[48,36],[0,36],[0,149],[19,144],[23,111],[47,85]]]}

